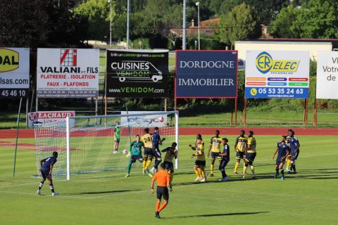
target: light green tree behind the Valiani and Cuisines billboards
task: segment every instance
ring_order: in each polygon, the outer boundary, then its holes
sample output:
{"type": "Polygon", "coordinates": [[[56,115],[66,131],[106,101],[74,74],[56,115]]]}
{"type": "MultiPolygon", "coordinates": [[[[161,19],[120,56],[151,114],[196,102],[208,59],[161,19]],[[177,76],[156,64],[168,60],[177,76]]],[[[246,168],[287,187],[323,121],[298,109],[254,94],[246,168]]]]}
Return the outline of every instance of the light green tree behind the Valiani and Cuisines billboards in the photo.
{"type": "Polygon", "coordinates": [[[110,18],[110,3],[107,0],[89,0],[77,8],[75,15],[88,20],[87,37],[94,40],[107,40],[109,37],[110,20],[115,17],[115,2],[112,0],[112,18],[110,18]]]}

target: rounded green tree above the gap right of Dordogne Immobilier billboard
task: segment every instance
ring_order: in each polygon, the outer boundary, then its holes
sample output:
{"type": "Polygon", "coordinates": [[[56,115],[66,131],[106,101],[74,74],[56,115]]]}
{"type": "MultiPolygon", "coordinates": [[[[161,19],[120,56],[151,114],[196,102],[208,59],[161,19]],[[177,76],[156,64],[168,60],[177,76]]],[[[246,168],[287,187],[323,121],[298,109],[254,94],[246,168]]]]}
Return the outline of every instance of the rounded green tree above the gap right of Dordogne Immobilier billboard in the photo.
{"type": "Polygon", "coordinates": [[[256,20],[256,13],[245,3],[232,8],[230,13],[220,16],[220,29],[216,37],[225,44],[234,41],[252,39],[261,36],[261,27],[256,20]]]}

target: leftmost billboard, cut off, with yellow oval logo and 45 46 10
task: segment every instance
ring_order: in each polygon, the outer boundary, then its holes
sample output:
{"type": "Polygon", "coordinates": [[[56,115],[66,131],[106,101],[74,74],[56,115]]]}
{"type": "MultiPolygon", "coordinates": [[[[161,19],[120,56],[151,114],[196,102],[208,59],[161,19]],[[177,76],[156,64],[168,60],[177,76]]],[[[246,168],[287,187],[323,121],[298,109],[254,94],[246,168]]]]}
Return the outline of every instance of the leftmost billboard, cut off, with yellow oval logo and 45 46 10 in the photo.
{"type": "Polygon", "coordinates": [[[0,98],[27,97],[30,91],[30,49],[0,48],[0,98]]]}

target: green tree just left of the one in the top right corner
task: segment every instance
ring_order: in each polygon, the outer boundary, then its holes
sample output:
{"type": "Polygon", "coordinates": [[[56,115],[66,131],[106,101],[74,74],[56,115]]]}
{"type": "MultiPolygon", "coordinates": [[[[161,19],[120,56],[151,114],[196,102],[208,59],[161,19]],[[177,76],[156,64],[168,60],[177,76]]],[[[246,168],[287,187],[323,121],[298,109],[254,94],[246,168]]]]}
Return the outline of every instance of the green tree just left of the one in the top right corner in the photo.
{"type": "Polygon", "coordinates": [[[299,15],[299,11],[300,9],[294,8],[293,4],[282,8],[280,13],[277,14],[276,19],[269,26],[270,33],[274,37],[299,38],[299,35],[295,34],[294,30],[292,30],[292,23],[299,15]]]}

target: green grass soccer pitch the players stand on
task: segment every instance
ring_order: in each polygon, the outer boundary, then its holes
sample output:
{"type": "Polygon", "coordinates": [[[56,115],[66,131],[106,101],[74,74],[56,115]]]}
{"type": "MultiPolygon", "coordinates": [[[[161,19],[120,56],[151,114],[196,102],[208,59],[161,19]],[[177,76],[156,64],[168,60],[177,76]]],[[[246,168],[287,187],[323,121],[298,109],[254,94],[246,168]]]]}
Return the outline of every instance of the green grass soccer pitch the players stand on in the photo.
{"type": "MultiPolygon", "coordinates": [[[[210,137],[204,136],[206,143],[210,137]]],[[[215,177],[201,184],[193,181],[194,159],[188,148],[195,136],[180,136],[180,169],[175,171],[174,191],[161,220],[154,217],[151,179],[139,167],[132,168],[129,178],[124,177],[125,170],[73,175],[70,181],[61,176],[54,180],[60,196],[51,197],[47,181],[39,196],[39,179],[32,177],[37,173],[35,151],[18,150],[13,178],[14,150],[1,147],[0,224],[337,224],[338,153],[332,148],[337,136],[298,137],[299,173],[286,175],[285,181],[273,179],[275,161],[270,159],[280,136],[256,136],[256,180],[232,174],[235,136],[227,136],[232,150],[226,167],[230,180],[218,182],[215,167],[215,177]]],[[[34,143],[34,139],[19,141],[34,143]]],[[[207,160],[207,170],[209,165],[207,160]]]]}

